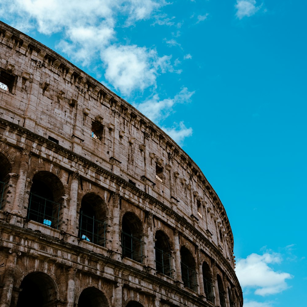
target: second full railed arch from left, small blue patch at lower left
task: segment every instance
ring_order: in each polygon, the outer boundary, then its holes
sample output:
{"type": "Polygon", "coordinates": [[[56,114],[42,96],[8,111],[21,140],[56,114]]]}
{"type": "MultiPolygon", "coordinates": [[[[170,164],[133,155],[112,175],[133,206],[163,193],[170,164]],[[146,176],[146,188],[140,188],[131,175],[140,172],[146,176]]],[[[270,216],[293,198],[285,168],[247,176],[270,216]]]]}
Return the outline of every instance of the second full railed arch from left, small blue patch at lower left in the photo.
{"type": "Polygon", "coordinates": [[[103,199],[94,193],[84,195],[79,215],[79,238],[105,246],[106,226],[106,205],[103,199]]]}

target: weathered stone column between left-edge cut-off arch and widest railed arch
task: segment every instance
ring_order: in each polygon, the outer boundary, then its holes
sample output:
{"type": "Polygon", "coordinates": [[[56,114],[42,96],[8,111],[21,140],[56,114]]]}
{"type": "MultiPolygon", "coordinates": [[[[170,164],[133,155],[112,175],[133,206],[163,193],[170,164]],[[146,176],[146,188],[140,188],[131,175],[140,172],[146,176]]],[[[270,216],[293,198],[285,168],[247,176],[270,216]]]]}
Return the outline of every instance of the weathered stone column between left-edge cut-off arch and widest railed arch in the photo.
{"type": "Polygon", "coordinates": [[[26,213],[23,213],[23,200],[25,195],[25,183],[27,180],[27,173],[29,167],[29,157],[30,151],[22,149],[20,153],[19,178],[16,184],[14,204],[11,211],[13,215],[11,216],[10,223],[21,223],[20,219],[18,221],[18,219],[16,219],[16,216],[14,215],[26,217],[26,213]]]}

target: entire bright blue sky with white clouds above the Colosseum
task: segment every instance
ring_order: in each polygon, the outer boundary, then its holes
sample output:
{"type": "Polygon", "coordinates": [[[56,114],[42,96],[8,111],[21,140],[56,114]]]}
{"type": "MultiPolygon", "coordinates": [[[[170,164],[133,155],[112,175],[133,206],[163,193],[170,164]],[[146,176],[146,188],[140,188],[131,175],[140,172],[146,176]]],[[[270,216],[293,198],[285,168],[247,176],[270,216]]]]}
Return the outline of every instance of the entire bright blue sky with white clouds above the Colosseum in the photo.
{"type": "Polygon", "coordinates": [[[245,307],[306,306],[306,2],[7,1],[162,127],[226,208],[245,307]]]}

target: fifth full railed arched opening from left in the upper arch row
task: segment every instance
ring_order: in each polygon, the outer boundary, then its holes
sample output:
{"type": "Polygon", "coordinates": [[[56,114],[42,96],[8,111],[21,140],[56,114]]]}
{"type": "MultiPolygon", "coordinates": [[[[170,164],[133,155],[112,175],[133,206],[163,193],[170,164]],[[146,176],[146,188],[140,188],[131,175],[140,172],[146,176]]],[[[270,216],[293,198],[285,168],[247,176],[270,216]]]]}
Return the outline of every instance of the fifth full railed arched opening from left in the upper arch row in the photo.
{"type": "Polygon", "coordinates": [[[195,260],[186,247],[181,247],[181,276],[185,287],[197,292],[197,276],[195,260]]]}

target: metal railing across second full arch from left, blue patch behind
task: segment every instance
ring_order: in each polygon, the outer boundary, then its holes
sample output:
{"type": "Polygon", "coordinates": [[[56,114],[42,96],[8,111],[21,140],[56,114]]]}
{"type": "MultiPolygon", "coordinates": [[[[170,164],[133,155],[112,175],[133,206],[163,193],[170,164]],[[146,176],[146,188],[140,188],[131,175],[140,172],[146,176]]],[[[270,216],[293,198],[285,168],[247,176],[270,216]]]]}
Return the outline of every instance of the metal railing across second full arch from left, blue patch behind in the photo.
{"type": "Polygon", "coordinates": [[[79,221],[79,238],[105,247],[107,223],[96,220],[95,216],[87,216],[82,211],[79,221]]]}

